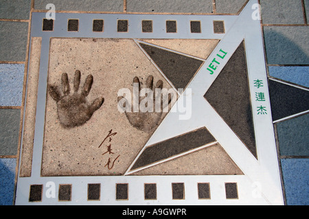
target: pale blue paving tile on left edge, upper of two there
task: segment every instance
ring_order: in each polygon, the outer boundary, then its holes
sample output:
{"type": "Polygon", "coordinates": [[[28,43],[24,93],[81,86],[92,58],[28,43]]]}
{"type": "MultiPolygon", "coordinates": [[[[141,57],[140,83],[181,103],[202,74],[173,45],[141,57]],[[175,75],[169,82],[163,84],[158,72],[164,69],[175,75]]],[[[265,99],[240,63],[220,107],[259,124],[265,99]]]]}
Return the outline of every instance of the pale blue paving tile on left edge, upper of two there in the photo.
{"type": "Polygon", "coordinates": [[[24,64],[0,64],[0,106],[20,106],[24,64]]]}

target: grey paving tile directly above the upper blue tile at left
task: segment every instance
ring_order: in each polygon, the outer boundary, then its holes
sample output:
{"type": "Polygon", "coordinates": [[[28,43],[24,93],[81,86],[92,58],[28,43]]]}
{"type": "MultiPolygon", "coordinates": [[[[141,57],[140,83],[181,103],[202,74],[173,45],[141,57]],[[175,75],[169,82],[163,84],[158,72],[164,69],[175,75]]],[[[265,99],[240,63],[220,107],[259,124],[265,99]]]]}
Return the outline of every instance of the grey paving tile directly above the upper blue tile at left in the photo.
{"type": "Polygon", "coordinates": [[[27,50],[27,22],[0,22],[0,61],[24,62],[27,50]]]}

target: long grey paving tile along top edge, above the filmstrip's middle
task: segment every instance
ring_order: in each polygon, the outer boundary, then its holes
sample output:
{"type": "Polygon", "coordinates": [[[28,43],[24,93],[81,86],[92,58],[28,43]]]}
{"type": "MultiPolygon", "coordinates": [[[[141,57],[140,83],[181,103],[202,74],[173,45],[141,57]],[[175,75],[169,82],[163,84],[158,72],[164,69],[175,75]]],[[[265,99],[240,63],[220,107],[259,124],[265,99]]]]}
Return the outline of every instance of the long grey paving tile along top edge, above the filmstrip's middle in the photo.
{"type": "Polygon", "coordinates": [[[127,0],[128,12],[211,13],[212,0],[127,0]]]}

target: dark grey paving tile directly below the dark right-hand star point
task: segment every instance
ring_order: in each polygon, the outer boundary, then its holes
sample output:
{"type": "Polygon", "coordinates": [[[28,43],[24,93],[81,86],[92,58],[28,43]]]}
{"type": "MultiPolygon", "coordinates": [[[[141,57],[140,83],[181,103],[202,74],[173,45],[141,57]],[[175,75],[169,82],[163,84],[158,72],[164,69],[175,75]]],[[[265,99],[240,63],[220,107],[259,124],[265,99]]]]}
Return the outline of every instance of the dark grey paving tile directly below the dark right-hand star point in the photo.
{"type": "Polygon", "coordinates": [[[277,124],[280,155],[309,155],[309,114],[277,124]]]}

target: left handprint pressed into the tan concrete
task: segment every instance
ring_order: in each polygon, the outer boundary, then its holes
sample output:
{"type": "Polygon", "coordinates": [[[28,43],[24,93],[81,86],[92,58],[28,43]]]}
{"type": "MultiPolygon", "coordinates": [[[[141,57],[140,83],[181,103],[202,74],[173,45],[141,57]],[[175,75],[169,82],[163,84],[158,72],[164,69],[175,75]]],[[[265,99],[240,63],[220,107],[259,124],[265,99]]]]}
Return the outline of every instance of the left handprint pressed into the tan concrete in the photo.
{"type": "Polygon", "coordinates": [[[60,124],[65,128],[78,127],[86,123],[96,110],[104,103],[104,98],[99,97],[92,103],[86,99],[91,86],[93,76],[88,75],[84,86],[80,89],[80,70],[76,70],[73,92],[69,86],[67,73],[62,74],[62,92],[58,86],[48,86],[49,95],[57,102],[57,111],[60,124]]]}

